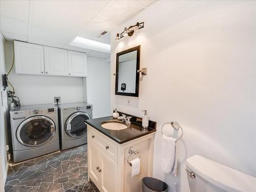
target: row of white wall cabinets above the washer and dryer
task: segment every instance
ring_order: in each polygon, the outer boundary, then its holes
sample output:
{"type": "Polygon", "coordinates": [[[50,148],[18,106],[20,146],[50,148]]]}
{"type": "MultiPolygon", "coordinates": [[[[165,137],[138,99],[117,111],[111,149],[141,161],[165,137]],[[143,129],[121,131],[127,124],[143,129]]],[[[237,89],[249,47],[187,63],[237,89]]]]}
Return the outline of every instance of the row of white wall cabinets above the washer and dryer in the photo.
{"type": "Polygon", "coordinates": [[[14,41],[15,73],[27,75],[87,76],[87,54],[14,41]]]}

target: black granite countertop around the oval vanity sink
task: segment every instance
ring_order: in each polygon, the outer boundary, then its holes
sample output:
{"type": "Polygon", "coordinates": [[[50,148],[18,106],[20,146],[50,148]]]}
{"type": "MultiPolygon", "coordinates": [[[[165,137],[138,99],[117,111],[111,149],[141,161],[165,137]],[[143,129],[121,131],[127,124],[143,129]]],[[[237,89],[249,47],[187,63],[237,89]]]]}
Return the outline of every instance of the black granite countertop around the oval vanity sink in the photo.
{"type": "Polygon", "coordinates": [[[112,116],[101,117],[96,119],[88,119],[86,122],[94,127],[97,131],[103,133],[105,136],[108,136],[112,140],[116,141],[119,144],[131,141],[133,139],[148,135],[150,133],[156,132],[156,129],[148,127],[148,131],[142,131],[142,126],[136,123],[131,123],[130,127],[124,130],[108,130],[101,126],[101,123],[109,120],[118,120],[112,116]]]}

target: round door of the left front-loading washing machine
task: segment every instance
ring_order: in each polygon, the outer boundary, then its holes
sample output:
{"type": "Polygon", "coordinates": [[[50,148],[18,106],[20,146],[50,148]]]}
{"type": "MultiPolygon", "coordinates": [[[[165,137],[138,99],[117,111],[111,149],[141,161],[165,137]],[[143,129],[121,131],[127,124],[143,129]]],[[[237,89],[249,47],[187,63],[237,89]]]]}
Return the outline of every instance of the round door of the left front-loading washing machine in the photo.
{"type": "Polygon", "coordinates": [[[16,136],[21,144],[36,147],[47,143],[55,132],[56,127],[52,119],[33,116],[20,123],[16,136]]]}

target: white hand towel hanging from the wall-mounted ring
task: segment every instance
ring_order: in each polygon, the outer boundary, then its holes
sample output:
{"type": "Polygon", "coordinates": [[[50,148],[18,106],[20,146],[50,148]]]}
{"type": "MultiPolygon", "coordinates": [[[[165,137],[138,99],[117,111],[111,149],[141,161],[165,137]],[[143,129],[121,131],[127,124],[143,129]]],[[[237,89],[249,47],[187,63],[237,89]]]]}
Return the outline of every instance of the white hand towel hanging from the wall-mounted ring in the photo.
{"type": "Polygon", "coordinates": [[[167,174],[177,175],[176,139],[163,135],[160,164],[167,174]]]}

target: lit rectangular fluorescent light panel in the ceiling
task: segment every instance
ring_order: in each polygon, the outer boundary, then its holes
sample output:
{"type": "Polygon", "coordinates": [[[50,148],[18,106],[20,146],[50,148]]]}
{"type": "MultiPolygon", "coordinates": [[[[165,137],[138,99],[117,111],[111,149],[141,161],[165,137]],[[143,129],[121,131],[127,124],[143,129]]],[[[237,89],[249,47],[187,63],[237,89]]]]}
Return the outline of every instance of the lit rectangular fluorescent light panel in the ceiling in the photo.
{"type": "Polygon", "coordinates": [[[110,53],[110,45],[104,44],[104,42],[100,42],[93,39],[76,37],[69,45],[81,47],[84,49],[91,49],[95,51],[100,51],[104,53],[110,53]]]}

